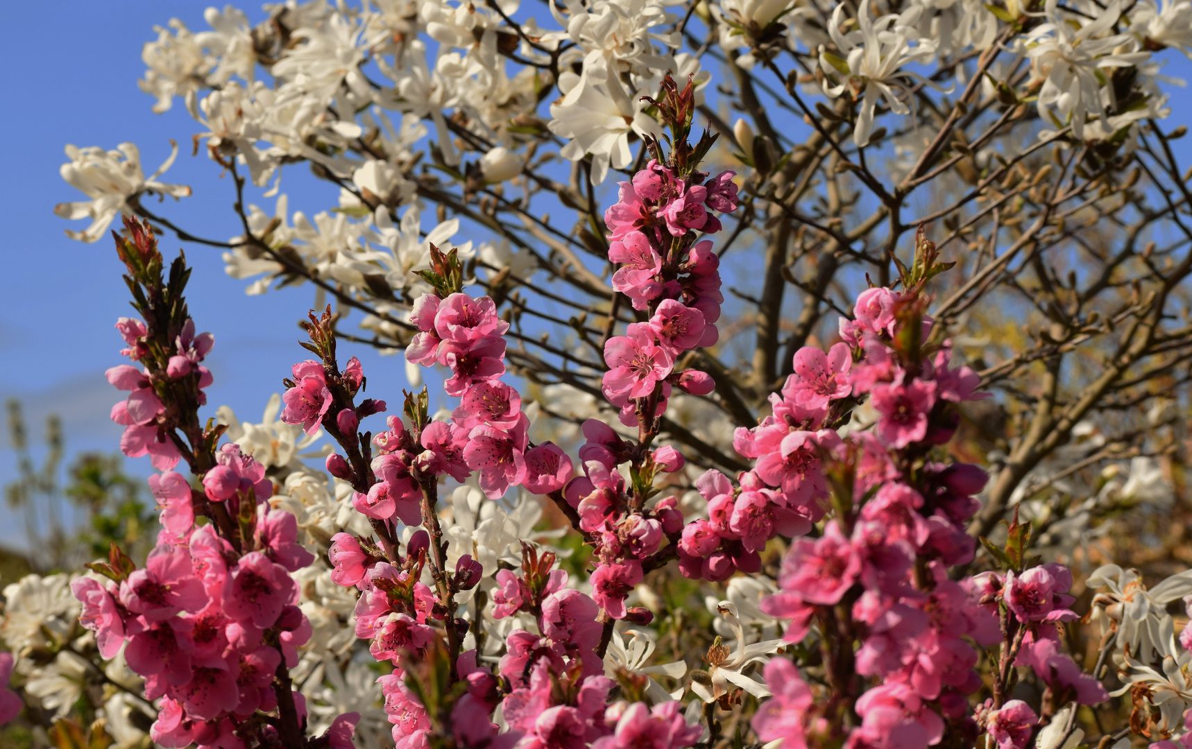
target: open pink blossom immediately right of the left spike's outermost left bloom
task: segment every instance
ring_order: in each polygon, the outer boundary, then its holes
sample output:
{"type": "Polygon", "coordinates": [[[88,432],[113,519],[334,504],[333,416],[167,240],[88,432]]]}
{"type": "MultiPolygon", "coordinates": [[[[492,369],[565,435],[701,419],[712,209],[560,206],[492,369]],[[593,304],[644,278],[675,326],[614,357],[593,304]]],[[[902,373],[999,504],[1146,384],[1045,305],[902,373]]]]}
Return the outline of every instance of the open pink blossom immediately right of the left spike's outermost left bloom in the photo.
{"type": "Polygon", "coordinates": [[[186,549],[166,544],[150,551],[144,568],[132,570],[120,583],[120,603],[149,622],[161,622],[180,611],[200,611],[207,594],[186,549]]]}

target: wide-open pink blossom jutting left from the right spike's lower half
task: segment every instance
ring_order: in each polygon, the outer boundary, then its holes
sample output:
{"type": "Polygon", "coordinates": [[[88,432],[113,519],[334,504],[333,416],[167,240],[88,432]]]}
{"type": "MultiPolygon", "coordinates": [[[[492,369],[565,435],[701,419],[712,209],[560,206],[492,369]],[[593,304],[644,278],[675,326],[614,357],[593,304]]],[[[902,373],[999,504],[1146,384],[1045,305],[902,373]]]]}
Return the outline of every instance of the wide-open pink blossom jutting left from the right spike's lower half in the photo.
{"type": "Polygon", "coordinates": [[[861,558],[833,520],[819,538],[799,538],[790,545],[778,585],[807,603],[834,606],[859,574],[861,558]]]}

